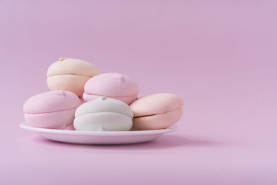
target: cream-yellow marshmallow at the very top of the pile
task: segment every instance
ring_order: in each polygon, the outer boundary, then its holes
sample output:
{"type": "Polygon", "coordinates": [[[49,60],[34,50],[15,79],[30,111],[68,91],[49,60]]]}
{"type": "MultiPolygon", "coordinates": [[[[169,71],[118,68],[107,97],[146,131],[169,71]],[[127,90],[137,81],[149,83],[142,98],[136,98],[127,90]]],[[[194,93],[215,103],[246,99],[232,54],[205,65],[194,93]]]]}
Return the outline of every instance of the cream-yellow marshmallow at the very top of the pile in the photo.
{"type": "Polygon", "coordinates": [[[89,62],[73,58],[60,58],[48,68],[47,85],[52,91],[71,91],[81,97],[84,93],[84,84],[89,78],[98,74],[98,69],[89,62]]]}

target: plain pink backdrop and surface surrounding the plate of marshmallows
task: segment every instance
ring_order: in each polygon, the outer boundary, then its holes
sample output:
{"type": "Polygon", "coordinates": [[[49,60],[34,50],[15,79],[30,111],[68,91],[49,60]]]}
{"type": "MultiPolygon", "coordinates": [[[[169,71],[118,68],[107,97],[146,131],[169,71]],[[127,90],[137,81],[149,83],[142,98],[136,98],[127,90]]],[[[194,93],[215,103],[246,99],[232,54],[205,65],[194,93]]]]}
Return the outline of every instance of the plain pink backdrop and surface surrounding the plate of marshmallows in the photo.
{"type": "Polygon", "coordinates": [[[274,1],[0,1],[0,184],[277,184],[274,1]],[[177,132],[132,146],[19,128],[60,57],[184,99],[177,132]]]}

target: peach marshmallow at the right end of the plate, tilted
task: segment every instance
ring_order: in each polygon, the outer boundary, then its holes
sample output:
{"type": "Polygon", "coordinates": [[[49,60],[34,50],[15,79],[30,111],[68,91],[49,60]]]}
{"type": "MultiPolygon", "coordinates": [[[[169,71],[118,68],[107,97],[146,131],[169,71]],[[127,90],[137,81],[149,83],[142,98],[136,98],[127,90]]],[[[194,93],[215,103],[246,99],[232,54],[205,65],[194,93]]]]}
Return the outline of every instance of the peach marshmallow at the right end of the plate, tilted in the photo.
{"type": "Polygon", "coordinates": [[[177,123],[183,114],[183,100],[175,94],[152,94],[134,101],[134,130],[159,130],[177,123]]]}

